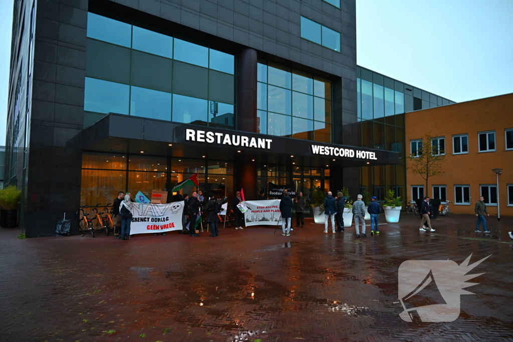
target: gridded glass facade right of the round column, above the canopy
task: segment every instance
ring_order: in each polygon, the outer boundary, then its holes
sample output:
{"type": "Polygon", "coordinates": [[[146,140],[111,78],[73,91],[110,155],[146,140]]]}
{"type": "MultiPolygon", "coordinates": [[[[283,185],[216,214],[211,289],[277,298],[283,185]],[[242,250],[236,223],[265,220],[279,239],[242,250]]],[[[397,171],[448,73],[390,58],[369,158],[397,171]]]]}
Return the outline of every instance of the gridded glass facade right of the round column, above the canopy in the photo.
{"type": "Polygon", "coordinates": [[[259,133],[331,142],[331,83],[299,70],[258,64],[259,133]]]}

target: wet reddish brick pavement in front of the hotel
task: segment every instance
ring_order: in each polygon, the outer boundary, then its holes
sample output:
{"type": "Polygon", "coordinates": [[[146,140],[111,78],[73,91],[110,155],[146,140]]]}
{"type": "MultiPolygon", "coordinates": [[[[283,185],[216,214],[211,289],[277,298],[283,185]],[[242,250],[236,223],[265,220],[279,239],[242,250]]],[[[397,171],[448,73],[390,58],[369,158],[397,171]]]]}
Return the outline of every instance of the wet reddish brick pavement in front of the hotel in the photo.
{"type": "MultiPolygon", "coordinates": [[[[384,217],[382,218],[384,219],[384,217]]],[[[169,233],[128,242],[90,236],[17,239],[0,229],[0,340],[381,341],[513,340],[513,218],[433,221],[405,214],[379,236],[323,234],[311,220],[290,237],[272,228],[169,233]],[[408,259],[471,262],[475,295],[452,323],[399,318],[398,267],[408,259]]]]}

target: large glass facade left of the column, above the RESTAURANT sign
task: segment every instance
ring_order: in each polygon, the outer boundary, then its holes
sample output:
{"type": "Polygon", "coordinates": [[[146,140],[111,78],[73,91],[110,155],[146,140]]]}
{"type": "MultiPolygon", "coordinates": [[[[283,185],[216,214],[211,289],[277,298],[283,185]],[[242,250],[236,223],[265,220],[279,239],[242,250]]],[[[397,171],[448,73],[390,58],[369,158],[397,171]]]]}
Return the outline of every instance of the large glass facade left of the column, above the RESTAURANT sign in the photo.
{"type": "Polygon", "coordinates": [[[235,128],[234,56],[88,13],[84,127],[118,113],[235,128]]]}

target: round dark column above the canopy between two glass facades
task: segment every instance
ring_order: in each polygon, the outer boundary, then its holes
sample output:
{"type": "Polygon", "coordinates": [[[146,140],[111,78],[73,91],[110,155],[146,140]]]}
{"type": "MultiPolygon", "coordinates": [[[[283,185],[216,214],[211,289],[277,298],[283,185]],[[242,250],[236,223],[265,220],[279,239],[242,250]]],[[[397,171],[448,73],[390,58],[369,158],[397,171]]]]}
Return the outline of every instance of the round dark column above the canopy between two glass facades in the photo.
{"type": "Polygon", "coordinates": [[[257,132],[257,50],[237,53],[236,129],[257,132]]]}

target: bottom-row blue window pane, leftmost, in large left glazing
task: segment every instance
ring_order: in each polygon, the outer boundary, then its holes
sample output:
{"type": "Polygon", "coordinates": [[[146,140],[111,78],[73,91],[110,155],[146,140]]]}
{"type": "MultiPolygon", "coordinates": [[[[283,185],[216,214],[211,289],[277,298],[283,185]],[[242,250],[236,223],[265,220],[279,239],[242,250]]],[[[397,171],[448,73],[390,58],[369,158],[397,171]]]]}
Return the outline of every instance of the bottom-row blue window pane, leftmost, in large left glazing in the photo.
{"type": "Polygon", "coordinates": [[[86,77],[84,110],[128,115],[130,86],[86,77]]]}

